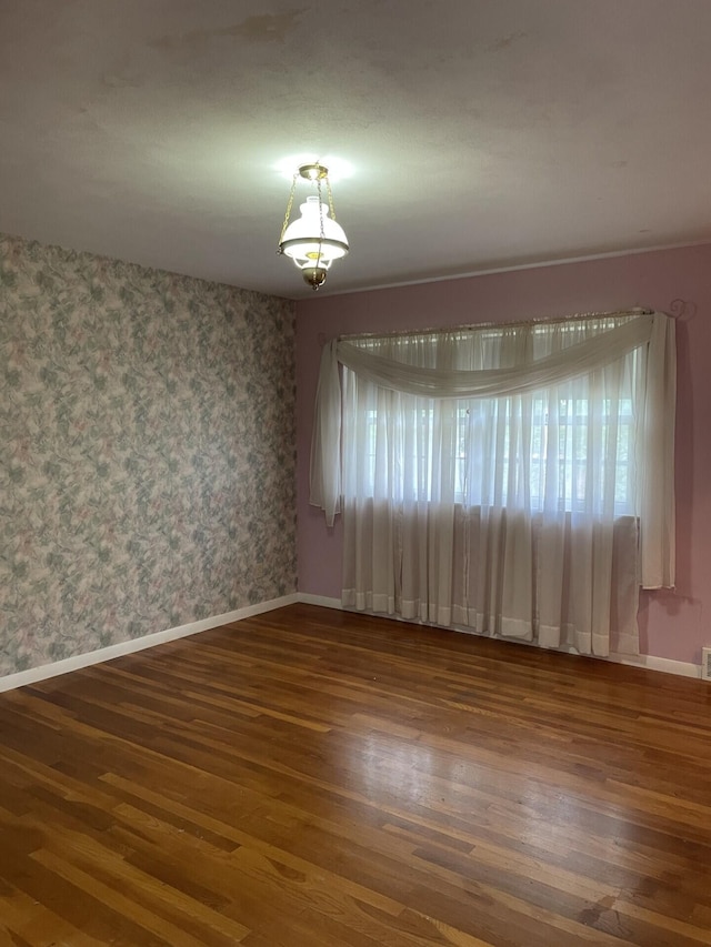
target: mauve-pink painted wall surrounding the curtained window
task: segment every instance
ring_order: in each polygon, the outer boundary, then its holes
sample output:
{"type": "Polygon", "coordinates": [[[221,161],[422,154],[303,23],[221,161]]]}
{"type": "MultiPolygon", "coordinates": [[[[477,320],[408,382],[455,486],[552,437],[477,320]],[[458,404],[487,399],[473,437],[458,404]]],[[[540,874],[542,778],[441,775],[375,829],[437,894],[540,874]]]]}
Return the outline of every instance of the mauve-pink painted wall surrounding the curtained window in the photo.
{"type": "MultiPolygon", "coordinates": [[[[343,265],[348,265],[346,261],[343,265]]],[[[338,282],[338,269],[330,276],[338,282]]],[[[297,304],[299,591],[340,598],[341,524],[328,530],[309,506],[313,397],[323,339],[379,332],[510,322],[672,301],[695,304],[678,321],[677,590],[643,593],[642,651],[701,661],[711,644],[711,245],[660,250],[425,283],[317,296],[297,304]],[[704,608],[705,605],[705,608],[704,608]]]]}

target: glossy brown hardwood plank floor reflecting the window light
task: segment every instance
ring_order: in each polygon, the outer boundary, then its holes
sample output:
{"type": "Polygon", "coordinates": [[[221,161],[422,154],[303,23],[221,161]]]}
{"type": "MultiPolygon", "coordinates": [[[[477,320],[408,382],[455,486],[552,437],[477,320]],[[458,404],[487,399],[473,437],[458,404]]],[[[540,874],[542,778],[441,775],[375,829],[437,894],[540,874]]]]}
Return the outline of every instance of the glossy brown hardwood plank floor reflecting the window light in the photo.
{"type": "Polygon", "coordinates": [[[293,605],[0,695],[0,944],[711,944],[711,685],[293,605]]]}

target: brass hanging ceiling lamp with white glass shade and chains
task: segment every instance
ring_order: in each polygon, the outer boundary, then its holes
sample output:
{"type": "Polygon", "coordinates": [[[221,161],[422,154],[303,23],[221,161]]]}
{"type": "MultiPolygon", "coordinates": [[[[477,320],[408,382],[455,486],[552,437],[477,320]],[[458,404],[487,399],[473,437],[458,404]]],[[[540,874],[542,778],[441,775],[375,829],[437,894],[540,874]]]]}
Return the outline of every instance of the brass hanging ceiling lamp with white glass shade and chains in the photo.
{"type": "Polygon", "coordinates": [[[301,270],[301,275],[313,290],[323,285],[331,263],[348,253],[348,239],[343,228],[336,222],[329,169],[323,164],[302,164],[294,173],[284,224],[279,238],[278,253],[284,253],[293,260],[301,270]],[[301,204],[299,209],[301,216],[289,223],[299,178],[316,184],[316,194],[308,197],[306,203],[301,204]],[[326,182],[328,206],[323,201],[323,182],[326,182]]]}

